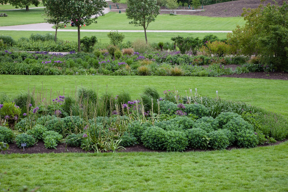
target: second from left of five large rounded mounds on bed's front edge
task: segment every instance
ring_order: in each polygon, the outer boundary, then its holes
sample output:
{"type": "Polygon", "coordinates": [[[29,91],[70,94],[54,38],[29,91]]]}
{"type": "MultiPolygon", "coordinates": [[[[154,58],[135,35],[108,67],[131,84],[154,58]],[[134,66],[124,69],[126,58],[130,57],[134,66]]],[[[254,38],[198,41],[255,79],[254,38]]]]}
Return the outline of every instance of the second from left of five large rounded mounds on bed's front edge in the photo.
{"type": "Polygon", "coordinates": [[[164,148],[167,151],[183,151],[187,148],[188,139],[186,134],[181,131],[170,130],[165,134],[164,148]]]}

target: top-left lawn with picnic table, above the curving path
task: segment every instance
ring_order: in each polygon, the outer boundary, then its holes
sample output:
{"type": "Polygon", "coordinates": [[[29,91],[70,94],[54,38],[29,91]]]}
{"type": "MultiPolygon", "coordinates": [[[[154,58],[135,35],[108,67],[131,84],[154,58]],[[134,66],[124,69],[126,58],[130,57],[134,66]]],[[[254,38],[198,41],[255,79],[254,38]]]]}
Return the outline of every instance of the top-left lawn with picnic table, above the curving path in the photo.
{"type": "MultiPolygon", "coordinates": [[[[1,10],[0,10],[1,11],[1,10]]],[[[1,11],[2,12],[2,11],[1,11]]],[[[5,11],[7,17],[0,17],[0,26],[22,25],[31,23],[43,23],[44,19],[41,14],[44,13],[44,9],[25,9],[5,11]]],[[[1,31],[0,31],[0,34],[1,31]]]]}

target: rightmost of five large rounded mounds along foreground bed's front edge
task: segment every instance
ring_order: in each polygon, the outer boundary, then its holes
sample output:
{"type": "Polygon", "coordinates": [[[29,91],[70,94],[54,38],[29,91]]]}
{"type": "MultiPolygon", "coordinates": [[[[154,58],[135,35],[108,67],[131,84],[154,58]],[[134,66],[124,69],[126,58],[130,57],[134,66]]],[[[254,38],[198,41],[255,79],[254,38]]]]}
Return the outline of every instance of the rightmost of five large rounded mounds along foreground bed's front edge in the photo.
{"type": "Polygon", "coordinates": [[[253,130],[242,129],[236,132],[237,145],[239,147],[256,147],[259,143],[258,137],[253,130]]]}

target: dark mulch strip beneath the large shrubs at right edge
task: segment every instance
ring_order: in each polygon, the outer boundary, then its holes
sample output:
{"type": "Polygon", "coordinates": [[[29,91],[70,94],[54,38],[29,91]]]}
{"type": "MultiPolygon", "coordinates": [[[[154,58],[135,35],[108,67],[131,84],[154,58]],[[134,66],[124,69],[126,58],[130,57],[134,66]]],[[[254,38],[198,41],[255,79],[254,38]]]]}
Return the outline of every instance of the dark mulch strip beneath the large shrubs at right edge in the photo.
{"type": "Polygon", "coordinates": [[[241,73],[232,75],[221,75],[220,77],[237,77],[237,78],[257,78],[257,79],[280,79],[288,80],[288,72],[254,72],[254,73],[241,73]]]}

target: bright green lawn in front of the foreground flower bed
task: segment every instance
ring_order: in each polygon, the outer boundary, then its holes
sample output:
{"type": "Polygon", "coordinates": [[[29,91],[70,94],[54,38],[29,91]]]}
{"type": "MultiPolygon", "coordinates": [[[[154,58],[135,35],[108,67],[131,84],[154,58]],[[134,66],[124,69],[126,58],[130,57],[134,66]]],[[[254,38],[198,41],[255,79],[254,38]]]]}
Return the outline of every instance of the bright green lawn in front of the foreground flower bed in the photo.
{"type": "Polygon", "coordinates": [[[287,191],[288,142],[231,151],[0,155],[1,188],[287,191]]]}

